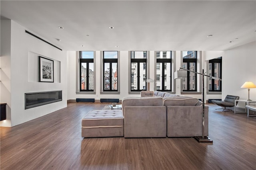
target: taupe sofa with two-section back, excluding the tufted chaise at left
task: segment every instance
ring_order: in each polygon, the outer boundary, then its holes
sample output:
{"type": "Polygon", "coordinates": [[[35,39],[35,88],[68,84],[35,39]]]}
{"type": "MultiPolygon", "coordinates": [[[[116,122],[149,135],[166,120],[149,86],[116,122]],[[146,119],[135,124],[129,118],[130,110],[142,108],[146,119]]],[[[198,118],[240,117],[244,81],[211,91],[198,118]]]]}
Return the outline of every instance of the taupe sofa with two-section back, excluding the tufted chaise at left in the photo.
{"type": "MultiPolygon", "coordinates": [[[[202,102],[190,96],[142,91],[142,97],[124,98],[124,137],[193,137],[202,135],[202,102]]],[[[208,107],[204,111],[208,136],[208,107]]]]}

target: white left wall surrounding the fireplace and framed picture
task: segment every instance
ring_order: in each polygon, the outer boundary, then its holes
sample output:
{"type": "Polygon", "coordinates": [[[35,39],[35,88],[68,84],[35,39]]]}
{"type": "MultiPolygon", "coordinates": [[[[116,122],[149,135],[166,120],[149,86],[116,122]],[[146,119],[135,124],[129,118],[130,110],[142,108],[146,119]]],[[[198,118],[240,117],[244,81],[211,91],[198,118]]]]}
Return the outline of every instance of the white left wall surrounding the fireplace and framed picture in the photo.
{"type": "MultiPolygon", "coordinates": [[[[67,106],[67,52],[60,51],[25,33],[25,29],[18,23],[11,21],[11,51],[9,56],[11,66],[11,126],[24,123],[67,106]],[[54,60],[54,66],[56,66],[54,68],[54,83],[38,82],[35,79],[37,78],[35,75],[38,74],[38,67],[35,66],[38,65],[38,55],[54,60]],[[35,73],[31,73],[32,71],[35,73]],[[62,90],[61,102],[25,110],[25,93],[53,90],[62,90]]],[[[41,38],[44,39],[44,37],[41,38]]],[[[2,121],[1,126],[4,126],[2,121]]]]}

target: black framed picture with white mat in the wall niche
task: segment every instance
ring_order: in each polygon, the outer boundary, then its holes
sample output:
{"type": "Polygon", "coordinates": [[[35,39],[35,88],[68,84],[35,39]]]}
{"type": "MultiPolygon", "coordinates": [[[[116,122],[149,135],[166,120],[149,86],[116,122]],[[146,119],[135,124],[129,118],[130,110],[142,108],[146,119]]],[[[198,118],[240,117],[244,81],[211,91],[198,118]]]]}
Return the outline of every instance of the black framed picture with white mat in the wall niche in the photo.
{"type": "Polygon", "coordinates": [[[39,56],[39,82],[54,82],[53,60],[39,56]]]}

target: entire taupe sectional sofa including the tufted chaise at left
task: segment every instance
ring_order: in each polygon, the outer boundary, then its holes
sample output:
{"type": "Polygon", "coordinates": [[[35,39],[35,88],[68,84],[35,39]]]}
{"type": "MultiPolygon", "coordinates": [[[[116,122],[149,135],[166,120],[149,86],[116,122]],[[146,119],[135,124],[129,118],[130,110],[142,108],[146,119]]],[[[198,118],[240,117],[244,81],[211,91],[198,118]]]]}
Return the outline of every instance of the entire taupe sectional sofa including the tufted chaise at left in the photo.
{"type": "MultiPolygon", "coordinates": [[[[82,137],[202,136],[202,102],[189,96],[142,91],[122,100],[122,110],[92,110],[82,119],[82,137]]],[[[204,113],[208,136],[208,107],[204,113]]]]}

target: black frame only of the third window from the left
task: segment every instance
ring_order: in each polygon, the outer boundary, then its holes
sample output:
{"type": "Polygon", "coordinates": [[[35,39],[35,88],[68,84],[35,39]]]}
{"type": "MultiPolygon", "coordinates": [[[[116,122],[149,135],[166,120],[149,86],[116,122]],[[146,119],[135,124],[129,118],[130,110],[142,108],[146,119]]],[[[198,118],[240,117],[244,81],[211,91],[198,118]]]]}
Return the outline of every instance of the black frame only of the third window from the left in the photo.
{"type": "Polygon", "coordinates": [[[148,52],[143,51],[143,58],[142,59],[133,59],[132,58],[132,55],[133,55],[132,52],[135,52],[135,51],[130,52],[130,67],[131,67],[131,70],[130,70],[130,75],[131,75],[130,91],[131,92],[141,92],[141,91],[147,89],[147,83],[145,81],[146,89],[139,89],[139,87],[140,87],[140,76],[137,76],[137,90],[132,89],[132,63],[137,63],[137,75],[140,75],[140,63],[145,63],[145,64],[143,64],[143,70],[146,70],[146,80],[147,80],[147,58],[148,58],[147,56],[148,56],[148,52]]]}

